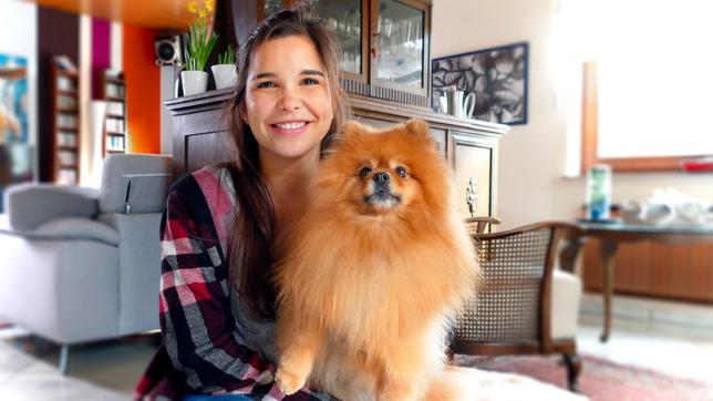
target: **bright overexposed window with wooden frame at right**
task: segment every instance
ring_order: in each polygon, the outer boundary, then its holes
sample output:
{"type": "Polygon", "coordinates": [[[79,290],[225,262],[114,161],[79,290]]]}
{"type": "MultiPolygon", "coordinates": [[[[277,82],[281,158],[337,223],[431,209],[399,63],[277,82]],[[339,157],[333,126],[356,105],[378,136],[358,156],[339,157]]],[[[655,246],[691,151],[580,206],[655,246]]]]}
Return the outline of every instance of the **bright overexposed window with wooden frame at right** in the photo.
{"type": "MultiPolygon", "coordinates": [[[[577,3],[575,6],[575,3],[577,3]]],[[[676,171],[713,154],[713,3],[582,0],[581,168],[676,171]],[[586,12],[582,12],[587,10],[586,12]]],[[[570,31],[571,33],[571,31],[570,31]]],[[[569,45],[576,45],[571,43],[569,45]]]]}

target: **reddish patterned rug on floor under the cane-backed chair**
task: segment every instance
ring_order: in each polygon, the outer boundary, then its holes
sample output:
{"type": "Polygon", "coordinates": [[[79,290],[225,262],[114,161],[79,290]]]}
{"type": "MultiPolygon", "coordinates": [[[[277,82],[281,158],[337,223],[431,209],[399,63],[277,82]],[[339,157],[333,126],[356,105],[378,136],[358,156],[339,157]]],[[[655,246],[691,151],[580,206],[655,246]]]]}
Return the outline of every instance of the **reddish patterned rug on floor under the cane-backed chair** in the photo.
{"type": "MultiPolygon", "coordinates": [[[[713,382],[681,379],[653,370],[582,356],[581,392],[592,401],[712,401],[713,382]]],[[[513,372],[567,388],[567,373],[559,357],[466,357],[456,363],[484,370],[513,372]]]]}

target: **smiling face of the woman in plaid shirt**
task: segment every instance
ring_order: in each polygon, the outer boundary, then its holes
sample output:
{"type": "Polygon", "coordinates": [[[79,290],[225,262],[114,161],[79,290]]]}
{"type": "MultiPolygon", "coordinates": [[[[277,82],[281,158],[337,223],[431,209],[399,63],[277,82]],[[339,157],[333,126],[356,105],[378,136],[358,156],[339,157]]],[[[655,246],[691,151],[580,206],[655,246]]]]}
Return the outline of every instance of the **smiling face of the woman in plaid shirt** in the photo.
{"type": "Polygon", "coordinates": [[[260,146],[261,160],[319,157],[333,111],[327,70],[308,38],[272,39],[255,50],[244,117],[260,146]]]}

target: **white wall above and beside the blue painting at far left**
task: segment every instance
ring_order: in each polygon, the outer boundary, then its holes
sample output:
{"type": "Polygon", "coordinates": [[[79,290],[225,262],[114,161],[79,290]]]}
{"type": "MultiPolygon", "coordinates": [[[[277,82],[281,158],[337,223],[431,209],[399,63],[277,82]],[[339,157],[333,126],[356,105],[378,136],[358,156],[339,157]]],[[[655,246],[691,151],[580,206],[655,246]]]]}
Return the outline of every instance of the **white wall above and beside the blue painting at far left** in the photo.
{"type": "Polygon", "coordinates": [[[28,126],[30,143],[38,137],[38,7],[16,0],[0,0],[0,53],[28,59],[28,126]]]}

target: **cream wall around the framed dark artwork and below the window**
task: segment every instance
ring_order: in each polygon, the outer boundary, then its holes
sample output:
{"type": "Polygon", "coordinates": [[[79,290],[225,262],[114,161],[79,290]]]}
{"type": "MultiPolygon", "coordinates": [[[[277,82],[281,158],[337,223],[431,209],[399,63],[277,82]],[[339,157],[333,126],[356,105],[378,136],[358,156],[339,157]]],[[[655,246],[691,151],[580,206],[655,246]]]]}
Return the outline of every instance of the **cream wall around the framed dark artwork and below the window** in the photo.
{"type": "MultiPolygon", "coordinates": [[[[432,56],[518,41],[530,44],[528,123],[500,141],[497,215],[503,228],[574,218],[581,213],[583,178],[564,178],[567,120],[555,105],[551,33],[558,0],[434,0],[432,56]]],[[[705,121],[702,121],[705,123],[705,121]]],[[[713,175],[616,174],[613,200],[645,199],[657,187],[675,187],[713,200],[713,175]]]]}

